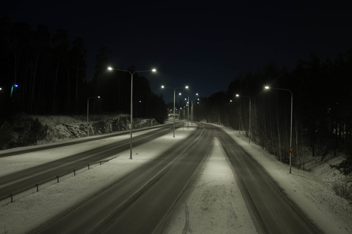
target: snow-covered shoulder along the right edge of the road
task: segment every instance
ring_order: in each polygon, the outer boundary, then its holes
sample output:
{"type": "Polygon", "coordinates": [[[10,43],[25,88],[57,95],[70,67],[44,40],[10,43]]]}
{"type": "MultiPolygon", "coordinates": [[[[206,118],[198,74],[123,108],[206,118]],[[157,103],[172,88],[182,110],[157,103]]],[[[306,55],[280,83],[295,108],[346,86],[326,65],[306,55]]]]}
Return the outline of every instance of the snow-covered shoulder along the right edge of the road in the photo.
{"type": "Polygon", "coordinates": [[[289,174],[288,165],[278,162],[260,146],[249,143],[248,138],[237,131],[225,129],[326,234],[352,233],[351,202],[337,196],[329,185],[318,179],[319,175],[295,168],[289,174]]]}

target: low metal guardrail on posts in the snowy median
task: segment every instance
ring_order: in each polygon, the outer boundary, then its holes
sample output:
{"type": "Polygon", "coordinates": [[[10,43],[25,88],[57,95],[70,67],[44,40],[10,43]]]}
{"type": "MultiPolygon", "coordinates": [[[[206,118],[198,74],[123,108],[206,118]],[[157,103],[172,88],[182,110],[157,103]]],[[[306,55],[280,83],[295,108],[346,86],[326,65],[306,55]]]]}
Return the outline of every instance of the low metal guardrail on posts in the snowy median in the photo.
{"type": "MultiPolygon", "coordinates": [[[[113,158],[111,158],[111,159],[113,159],[113,158]]],[[[78,170],[81,170],[81,169],[86,168],[86,167],[88,167],[88,170],[89,170],[89,169],[90,169],[90,166],[93,166],[93,165],[98,164],[98,163],[100,163],[100,165],[101,165],[103,162],[110,161],[111,159],[106,159],[106,160],[101,160],[101,161],[98,161],[98,162],[88,163],[87,165],[80,166],[80,167],[75,168],[75,169],[73,169],[73,170],[71,170],[71,171],[64,172],[64,173],[59,174],[59,175],[57,175],[57,176],[54,176],[54,177],[51,177],[51,178],[49,178],[49,179],[40,181],[40,182],[38,182],[38,183],[36,183],[36,184],[34,184],[34,185],[31,185],[31,186],[28,186],[28,187],[26,187],[26,188],[17,190],[17,191],[15,191],[15,192],[11,193],[11,194],[7,194],[7,195],[5,195],[5,196],[2,196],[2,197],[0,197],[0,201],[2,201],[2,202],[0,202],[0,206],[3,206],[3,205],[5,205],[5,204],[7,204],[7,203],[10,203],[10,199],[9,199],[9,201],[7,201],[7,202],[6,202],[6,201],[5,201],[5,202],[3,201],[3,200],[5,200],[5,199],[7,199],[7,198],[11,198],[11,203],[12,203],[13,200],[14,200],[14,196],[15,196],[15,195],[19,195],[19,194],[22,194],[22,193],[24,193],[24,192],[27,191],[27,192],[28,192],[27,194],[23,194],[22,196],[19,197],[19,198],[22,198],[22,197],[24,197],[24,196],[26,196],[26,195],[28,195],[28,194],[33,193],[33,192],[39,192],[39,185],[44,185],[43,188],[46,188],[46,187],[48,187],[48,186],[54,184],[52,181],[57,181],[57,182],[55,182],[55,183],[58,183],[58,182],[59,182],[59,178],[62,178],[62,177],[65,176],[65,175],[68,175],[68,174],[73,173],[73,175],[71,175],[71,176],[75,176],[78,170]],[[46,185],[46,186],[45,186],[45,184],[48,184],[49,182],[51,182],[51,183],[50,183],[49,185],[46,185]],[[34,191],[35,189],[33,189],[33,188],[36,188],[37,190],[34,191]],[[29,191],[29,190],[30,190],[30,191],[29,191]]],[[[66,178],[71,177],[71,176],[67,176],[66,178]]],[[[63,180],[63,179],[62,179],[62,180],[63,180]]],[[[61,180],[61,181],[62,181],[62,180],[61,180]]],[[[18,199],[19,199],[19,198],[18,198],[18,199]]]]}

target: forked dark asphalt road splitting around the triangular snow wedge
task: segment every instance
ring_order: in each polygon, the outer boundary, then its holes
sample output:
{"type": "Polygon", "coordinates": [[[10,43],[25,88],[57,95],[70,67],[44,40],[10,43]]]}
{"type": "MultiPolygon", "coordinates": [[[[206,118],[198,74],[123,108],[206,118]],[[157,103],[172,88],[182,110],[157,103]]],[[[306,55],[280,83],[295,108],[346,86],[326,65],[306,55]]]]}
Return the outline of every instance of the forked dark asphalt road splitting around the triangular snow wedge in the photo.
{"type": "MultiPolygon", "coordinates": [[[[150,137],[141,136],[141,143],[150,137]]],[[[215,138],[232,164],[258,233],[323,233],[221,127],[207,124],[198,124],[188,138],[33,233],[163,233],[166,217],[201,172],[215,138]]]]}

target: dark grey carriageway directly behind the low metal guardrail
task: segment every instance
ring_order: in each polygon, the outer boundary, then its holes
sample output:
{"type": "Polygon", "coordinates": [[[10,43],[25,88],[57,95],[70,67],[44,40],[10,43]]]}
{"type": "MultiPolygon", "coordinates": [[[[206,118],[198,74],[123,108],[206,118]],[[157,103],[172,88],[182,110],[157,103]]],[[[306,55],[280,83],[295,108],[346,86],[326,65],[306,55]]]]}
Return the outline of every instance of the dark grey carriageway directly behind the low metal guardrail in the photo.
{"type": "MultiPolygon", "coordinates": [[[[139,136],[134,136],[132,137],[132,147],[146,143],[147,141],[150,141],[159,136],[170,134],[172,132],[172,129],[172,125],[166,125],[156,129],[156,131],[150,131],[139,136]]],[[[115,155],[119,152],[123,152],[129,148],[130,139],[126,139],[102,147],[90,149],[89,151],[70,155],[62,159],[30,167],[20,172],[1,176],[0,197],[25,188],[27,186],[34,185],[40,181],[52,178],[64,172],[73,170],[80,166],[87,165],[88,163],[110,158],[112,155],[115,155]]],[[[40,148],[39,150],[42,150],[42,148],[40,148]]]]}

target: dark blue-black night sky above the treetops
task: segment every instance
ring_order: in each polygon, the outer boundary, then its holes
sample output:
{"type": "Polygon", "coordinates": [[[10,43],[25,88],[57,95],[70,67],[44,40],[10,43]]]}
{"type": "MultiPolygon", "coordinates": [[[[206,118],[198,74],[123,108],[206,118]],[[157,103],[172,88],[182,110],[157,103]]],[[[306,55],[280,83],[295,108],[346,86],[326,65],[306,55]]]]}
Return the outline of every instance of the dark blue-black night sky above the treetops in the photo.
{"type": "Polygon", "coordinates": [[[293,69],[311,52],[321,60],[333,59],[352,46],[351,3],[229,2],[13,0],[0,4],[0,16],[24,21],[33,31],[39,24],[52,34],[67,29],[71,42],[83,38],[88,81],[100,46],[112,50],[109,59],[117,68],[156,68],[155,74],[139,75],[166,102],[173,100],[173,92],[161,85],[189,85],[184,93],[209,97],[226,91],[240,73],[271,62],[293,69]]]}

